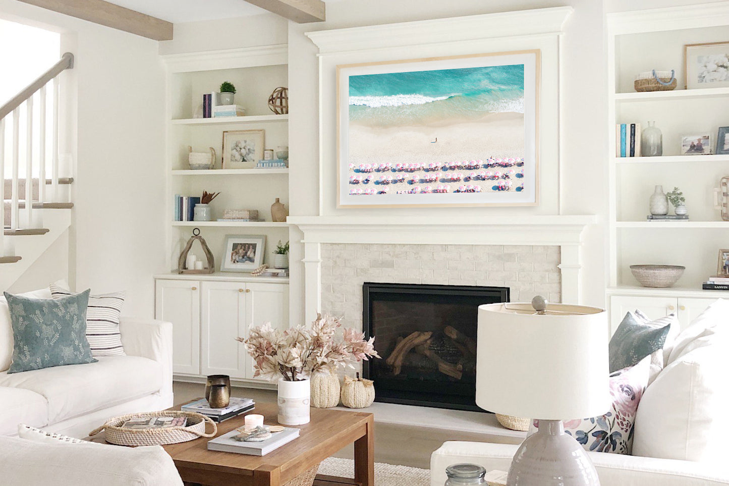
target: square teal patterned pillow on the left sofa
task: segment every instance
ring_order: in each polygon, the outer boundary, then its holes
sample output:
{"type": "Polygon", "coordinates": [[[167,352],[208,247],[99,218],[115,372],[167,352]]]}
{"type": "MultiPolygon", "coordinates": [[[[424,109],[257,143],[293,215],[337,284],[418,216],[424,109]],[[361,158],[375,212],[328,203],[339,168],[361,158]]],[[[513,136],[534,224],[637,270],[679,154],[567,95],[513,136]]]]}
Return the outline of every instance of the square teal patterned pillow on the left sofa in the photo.
{"type": "Polygon", "coordinates": [[[5,292],[14,342],[7,372],[95,363],[86,339],[89,293],[52,299],[5,292]]]}

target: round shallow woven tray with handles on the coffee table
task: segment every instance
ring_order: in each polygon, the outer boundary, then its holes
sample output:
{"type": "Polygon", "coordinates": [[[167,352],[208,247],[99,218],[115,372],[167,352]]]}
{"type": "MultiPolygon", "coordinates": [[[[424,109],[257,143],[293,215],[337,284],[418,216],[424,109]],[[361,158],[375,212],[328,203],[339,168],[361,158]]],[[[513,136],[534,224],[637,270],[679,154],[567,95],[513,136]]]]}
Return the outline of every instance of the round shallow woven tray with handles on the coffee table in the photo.
{"type": "Polygon", "coordinates": [[[106,441],[110,444],[126,446],[178,444],[187,442],[198,437],[214,437],[218,432],[218,426],[208,417],[196,412],[182,412],[178,410],[162,410],[160,412],[144,412],[137,414],[120,415],[106,420],[104,425],[89,432],[90,436],[106,430],[106,441]],[[186,417],[187,424],[184,427],[165,428],[124,428],[122,424],[133,418],[152,417],[186,417]],[[205,424],[213,425],[211,433],[205,432],[205,424]]]}

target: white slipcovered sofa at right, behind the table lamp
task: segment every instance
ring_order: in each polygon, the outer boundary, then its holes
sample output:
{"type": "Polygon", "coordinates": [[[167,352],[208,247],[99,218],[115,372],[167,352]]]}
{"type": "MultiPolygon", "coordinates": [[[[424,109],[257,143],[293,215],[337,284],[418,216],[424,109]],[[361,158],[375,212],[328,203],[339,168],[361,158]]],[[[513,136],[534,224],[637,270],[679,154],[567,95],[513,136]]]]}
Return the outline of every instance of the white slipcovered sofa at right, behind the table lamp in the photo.
{"type": "MultiPolygon", "coordinates": [[[[666,367],[636,415],[633,453],[588,452],[601,486],[729,485],[729,300],[714,302],[677,336],[666,367]]],[[[445,442],[430,460],[431,485],[445,468],[475,463],[508,471],[518,445],[445,442]]]]}

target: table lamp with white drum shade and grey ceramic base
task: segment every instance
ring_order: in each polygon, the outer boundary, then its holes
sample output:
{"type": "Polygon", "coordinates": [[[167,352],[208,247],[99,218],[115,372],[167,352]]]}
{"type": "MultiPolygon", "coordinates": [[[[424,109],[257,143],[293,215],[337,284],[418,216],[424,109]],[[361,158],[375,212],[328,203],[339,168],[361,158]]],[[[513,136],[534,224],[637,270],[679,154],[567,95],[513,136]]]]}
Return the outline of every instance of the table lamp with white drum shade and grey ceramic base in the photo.
{"type": "Polygon", "coordinates": [[[507,486],[599,486],[595,466],[561,420],[610,407],[606,314],[541,297],[478,307],[476,404],[539,419],[514,455],[507,486]]]}

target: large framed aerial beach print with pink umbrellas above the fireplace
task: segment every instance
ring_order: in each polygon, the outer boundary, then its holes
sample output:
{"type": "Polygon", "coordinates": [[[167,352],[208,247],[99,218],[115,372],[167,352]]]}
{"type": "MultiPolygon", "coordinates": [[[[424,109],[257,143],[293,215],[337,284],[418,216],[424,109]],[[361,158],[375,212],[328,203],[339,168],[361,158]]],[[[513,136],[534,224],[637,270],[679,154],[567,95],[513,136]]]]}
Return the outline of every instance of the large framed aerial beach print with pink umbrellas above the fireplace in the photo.
{"type": "Polygon", "coordinates": [[[337,66],[338,207],[539,204],[540,51],[337,66]]]}

